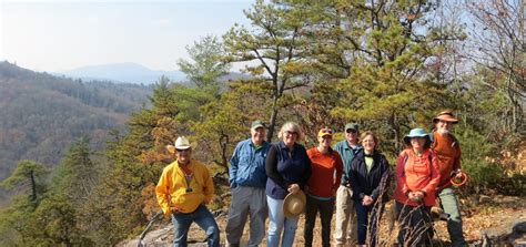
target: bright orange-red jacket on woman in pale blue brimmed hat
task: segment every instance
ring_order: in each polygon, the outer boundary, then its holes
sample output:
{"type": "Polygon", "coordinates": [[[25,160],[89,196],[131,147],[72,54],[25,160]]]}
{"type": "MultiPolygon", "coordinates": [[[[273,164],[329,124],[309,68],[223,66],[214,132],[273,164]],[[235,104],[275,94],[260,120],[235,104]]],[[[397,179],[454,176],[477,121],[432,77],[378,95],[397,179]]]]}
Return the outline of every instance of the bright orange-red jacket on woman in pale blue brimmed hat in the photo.
{"type": "Polygon", "coordinates": [[[418,157],[413,150],[406,148],[402,151],[396,162],[396,189],[393,197],[402,204],[418,206],[409,200],[406,193],[424,192],[424,205],[433,206],[439,179],[436,155],[433,155],[432,151],[426,150],[418,157]]]}

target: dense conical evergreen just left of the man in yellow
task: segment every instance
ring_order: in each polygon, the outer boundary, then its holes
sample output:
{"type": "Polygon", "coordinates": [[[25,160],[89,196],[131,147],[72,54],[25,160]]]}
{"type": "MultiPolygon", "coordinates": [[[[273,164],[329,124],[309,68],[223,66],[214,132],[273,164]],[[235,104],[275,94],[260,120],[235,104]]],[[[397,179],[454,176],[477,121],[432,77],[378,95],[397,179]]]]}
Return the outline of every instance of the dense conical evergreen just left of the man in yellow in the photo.
{"type": "Polygon", "coordinates": [[[114,140],[108,143],[110,167],[84,207],[97,245],[114,245],[145,226],[143,208],[154,202],[151,185],[171,162],[165,145],[183,131],[184,125],[175,120],[180,113],[178,100],[166,79],[155,85],[150,101],[151,109],[132,114],[128,134],[114,132],[114,140]]]}

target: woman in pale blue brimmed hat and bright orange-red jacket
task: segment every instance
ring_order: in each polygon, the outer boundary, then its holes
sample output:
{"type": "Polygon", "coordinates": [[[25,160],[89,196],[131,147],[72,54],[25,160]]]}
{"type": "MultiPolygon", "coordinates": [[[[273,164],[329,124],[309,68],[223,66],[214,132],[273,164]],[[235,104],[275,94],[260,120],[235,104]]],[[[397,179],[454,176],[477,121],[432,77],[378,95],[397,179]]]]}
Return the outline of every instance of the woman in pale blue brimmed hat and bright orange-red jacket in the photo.
{"type": "Polygon", "coordinates": [[[398,219],[398,245],[431,245],[433,222],[431,207],[435,205],[435,189],[441,181],[437,158],[429,150],[429,135],[413,128],[404,137],[406,148],[396,162],[394,192],[398,219]]]}

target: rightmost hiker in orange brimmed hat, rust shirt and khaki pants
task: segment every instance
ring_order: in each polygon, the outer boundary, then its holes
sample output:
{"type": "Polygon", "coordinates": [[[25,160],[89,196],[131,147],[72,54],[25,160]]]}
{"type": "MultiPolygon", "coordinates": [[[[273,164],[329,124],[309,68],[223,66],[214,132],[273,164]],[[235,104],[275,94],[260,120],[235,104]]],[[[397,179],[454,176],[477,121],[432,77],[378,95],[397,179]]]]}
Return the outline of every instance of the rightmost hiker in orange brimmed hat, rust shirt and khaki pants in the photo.
{"type": "Polygon", "coordinates": [[[456,137],[451,133],[453,124],[458,123],[451,111],[438,113],[433,123],[432,150],[436,154],[438,169],[441,172],[441,183],[438,184],[436,195],[441,200],[441,207],[445,214],[448,214],[447,231],[452,246],[467,246],[462,233],[462,218],[458,208],[458,200],[455,196],[455,189],[451,185],[451,177],[461,175],[461,145],[456,137]]]}

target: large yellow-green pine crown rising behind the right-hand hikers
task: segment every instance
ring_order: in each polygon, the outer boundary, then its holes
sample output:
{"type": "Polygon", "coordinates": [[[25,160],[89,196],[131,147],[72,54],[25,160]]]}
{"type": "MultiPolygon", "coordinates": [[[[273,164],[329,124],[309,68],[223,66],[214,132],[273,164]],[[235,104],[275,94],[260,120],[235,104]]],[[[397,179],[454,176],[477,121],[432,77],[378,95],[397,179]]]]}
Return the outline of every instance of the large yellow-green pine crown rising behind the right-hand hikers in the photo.
{"type": "Polygon", "coordinates": [[[312,109],[328,112],[335,122],[361,122],[384,136],[383,146],[393,153],[411,127],[428,125],[442,107],[444,88],[429,76],[427,63],[442,41],[461,34],[437,30],[433,12],[438,2],[283,2],[311,13],[307,54],[328,75],[316,83],[312,102],[321,105],[312,109]]]}

